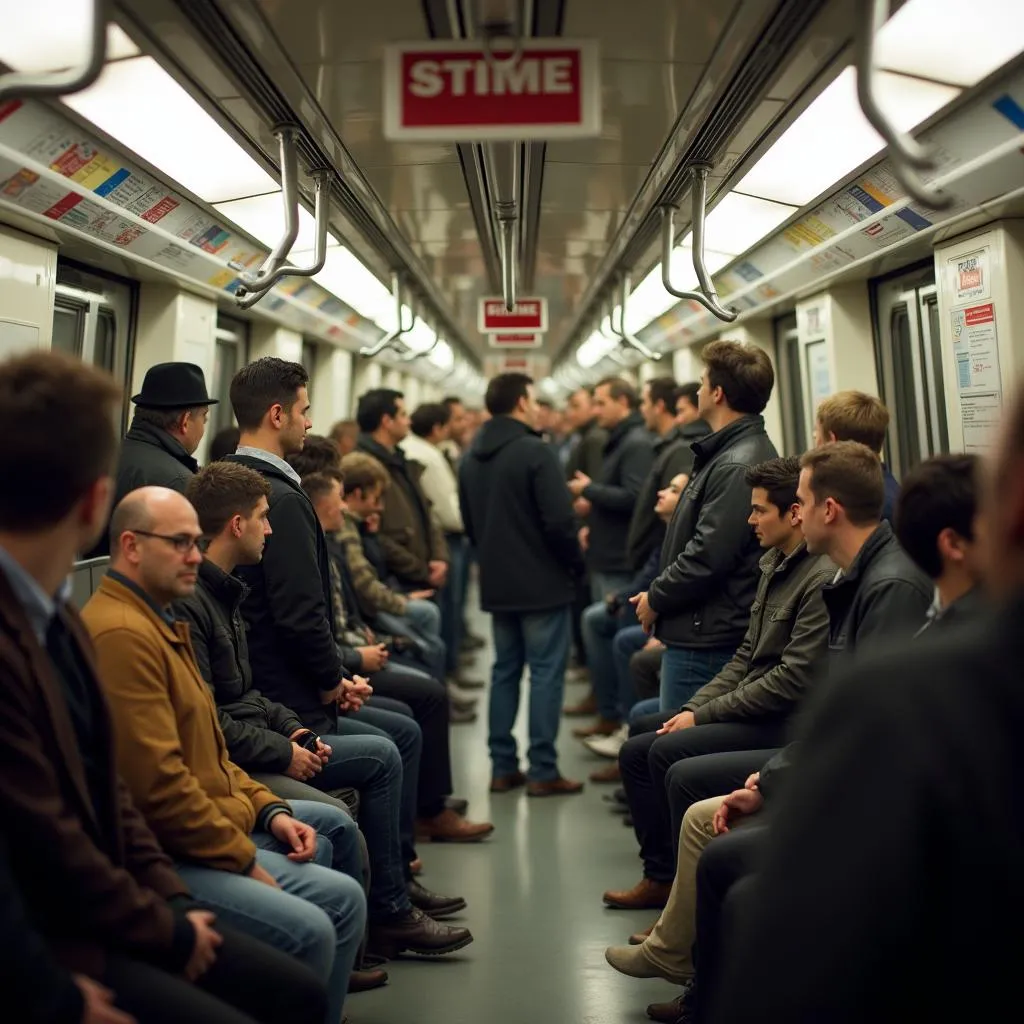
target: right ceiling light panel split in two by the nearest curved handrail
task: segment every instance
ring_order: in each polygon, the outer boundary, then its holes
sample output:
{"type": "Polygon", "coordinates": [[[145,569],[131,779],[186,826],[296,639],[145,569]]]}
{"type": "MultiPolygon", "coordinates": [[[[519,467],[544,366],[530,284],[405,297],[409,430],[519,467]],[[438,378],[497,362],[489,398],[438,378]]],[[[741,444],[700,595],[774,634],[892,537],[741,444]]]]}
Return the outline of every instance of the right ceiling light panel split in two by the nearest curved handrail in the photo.
{"type": "MultiPolygon", "coordinates": [[[[880,72],[879,103],[901,131],[909,131],[957,95],[952,86],[880,72]]],[[[794,122],[736,185],[736,191],[805,206],[880,153],[882,136],[857,102],[857,80],[847,68],[794,122]]]]}

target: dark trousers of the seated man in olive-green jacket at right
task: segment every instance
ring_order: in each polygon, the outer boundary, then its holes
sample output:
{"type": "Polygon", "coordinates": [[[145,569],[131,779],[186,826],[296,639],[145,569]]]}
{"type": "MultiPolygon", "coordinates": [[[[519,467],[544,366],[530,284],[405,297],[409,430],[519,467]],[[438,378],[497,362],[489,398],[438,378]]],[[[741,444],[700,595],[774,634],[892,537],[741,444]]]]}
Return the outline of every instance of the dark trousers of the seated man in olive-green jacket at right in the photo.
{"type": "Polygon", "coordinates": [[[714,723],[666,736],[644,732],[618,754],[644,878],[672,883],[690,804],[739,788],[783,741],[781,724],[714,723]],[[671,772],[671,778],[670,778],[671,772]]]}

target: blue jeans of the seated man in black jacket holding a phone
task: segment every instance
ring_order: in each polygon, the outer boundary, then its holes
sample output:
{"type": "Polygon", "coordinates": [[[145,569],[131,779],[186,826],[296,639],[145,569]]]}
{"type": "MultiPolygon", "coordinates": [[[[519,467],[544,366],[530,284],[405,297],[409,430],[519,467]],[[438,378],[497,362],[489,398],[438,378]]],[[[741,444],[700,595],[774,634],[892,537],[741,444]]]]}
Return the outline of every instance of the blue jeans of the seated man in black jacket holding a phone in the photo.
{"type": "MultiPolygon", "coordinates": [[[[331,757],[310,781],[317,790],[359,791],[359,829],[367,841],[370,920],[387,921],[410,909],[408,865],[401,855],[401,758],[389,736],[321,736],[331,757]]],[[[292,805],[295,806],[294,803],[292,805]]]]}

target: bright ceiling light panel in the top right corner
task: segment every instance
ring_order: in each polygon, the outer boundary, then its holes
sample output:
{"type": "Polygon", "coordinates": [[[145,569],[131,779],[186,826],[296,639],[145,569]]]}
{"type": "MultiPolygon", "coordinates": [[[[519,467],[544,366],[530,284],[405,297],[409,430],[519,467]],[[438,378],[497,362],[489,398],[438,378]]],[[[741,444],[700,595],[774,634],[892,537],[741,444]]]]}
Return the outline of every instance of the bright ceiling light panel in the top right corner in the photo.
{"type": "Polygon", "coordinates": [[[972,86],[1024,51],[1020,0],[907,0],[879,33],[880,68],[972,86]]]}

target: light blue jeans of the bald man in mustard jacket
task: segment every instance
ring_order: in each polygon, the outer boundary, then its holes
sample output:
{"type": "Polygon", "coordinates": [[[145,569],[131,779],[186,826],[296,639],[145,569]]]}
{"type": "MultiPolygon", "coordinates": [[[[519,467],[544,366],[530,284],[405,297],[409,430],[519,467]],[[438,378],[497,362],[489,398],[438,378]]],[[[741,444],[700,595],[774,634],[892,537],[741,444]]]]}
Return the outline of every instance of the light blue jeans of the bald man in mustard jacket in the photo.
{"type": "Polygon", "coordinates": [[[295,816],[312,825],[322,839],[314,863],[297,864],[269,833],[254,833],[256,860],[281,886],[270,886],[232,871],[194,863],[177,864],[193,895],[228,924],[253,938],[291,953],[328,986],[328,1024],[341,1020],[348,976],[362,942],[367,901],[362,886],[355,822],[328,804],[297,800],[295,816]],[[354,849],[354,876],[327,866],[349,859],[354,849]]]}

